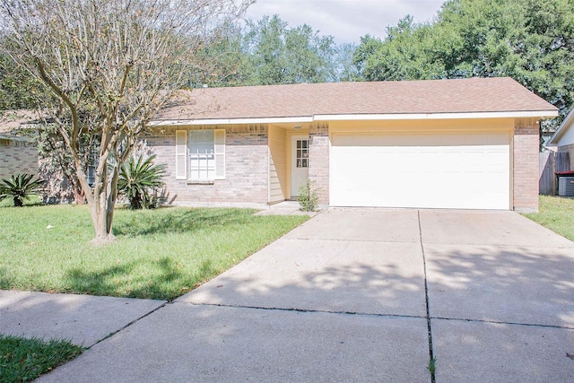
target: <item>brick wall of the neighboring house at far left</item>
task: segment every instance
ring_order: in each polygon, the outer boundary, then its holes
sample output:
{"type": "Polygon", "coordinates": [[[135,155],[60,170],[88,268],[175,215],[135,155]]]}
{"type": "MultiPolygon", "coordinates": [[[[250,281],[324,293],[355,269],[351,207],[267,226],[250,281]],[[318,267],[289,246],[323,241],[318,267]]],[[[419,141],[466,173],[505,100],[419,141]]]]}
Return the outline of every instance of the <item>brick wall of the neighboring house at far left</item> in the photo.
{"type": "Polygon", "coordinates": [[[21,141],[0,140],[0,179],[19,173],[38,174],[38,150],[21,141]]]}

